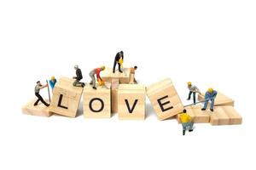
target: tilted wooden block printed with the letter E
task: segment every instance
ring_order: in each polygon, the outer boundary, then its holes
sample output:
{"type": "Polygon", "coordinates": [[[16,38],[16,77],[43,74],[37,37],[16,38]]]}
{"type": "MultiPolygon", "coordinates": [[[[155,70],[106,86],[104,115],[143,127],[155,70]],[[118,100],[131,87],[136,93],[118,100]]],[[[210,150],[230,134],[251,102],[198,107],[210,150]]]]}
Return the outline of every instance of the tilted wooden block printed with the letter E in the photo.
{"type": "Polygon", "coordinates": [[[160,120],[176,116],[183,111],[183,104],[170,78],[147,88],[147,95],[160,120]]]}

